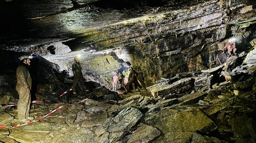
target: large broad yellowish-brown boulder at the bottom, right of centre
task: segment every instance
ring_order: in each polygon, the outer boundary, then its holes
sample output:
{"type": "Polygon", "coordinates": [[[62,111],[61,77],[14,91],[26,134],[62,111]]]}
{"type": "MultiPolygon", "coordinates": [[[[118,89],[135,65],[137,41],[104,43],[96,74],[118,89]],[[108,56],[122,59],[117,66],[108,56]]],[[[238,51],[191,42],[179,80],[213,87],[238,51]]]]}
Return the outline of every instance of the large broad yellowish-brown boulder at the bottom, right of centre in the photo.
{"type": "Polygon", "coordinates": [[[146,114],[145,123],[156,127],[163,136],[156,142],[186,142],[195,131],[205,132],[215,127],[213,120],[198,108],[180,107],[146,114]]]}

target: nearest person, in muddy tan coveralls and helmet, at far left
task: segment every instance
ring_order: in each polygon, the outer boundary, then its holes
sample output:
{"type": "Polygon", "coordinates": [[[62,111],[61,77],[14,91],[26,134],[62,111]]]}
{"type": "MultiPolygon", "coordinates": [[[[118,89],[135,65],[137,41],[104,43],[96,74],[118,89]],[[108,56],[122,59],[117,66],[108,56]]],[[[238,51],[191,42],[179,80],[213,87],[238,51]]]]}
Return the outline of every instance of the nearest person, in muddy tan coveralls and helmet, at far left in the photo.
{"type": "Polygon", "coordinates": [[[30,59],[29,56],[23,55],[20,57],[20,65],[16,70],[17,85],[16,90],[19,94],[18,100],[18,120],[19,122],[29,122],[34,117],[29,117],[29,110],[31,105],[31,85],[32,78],[29,74],[30,59]]]}

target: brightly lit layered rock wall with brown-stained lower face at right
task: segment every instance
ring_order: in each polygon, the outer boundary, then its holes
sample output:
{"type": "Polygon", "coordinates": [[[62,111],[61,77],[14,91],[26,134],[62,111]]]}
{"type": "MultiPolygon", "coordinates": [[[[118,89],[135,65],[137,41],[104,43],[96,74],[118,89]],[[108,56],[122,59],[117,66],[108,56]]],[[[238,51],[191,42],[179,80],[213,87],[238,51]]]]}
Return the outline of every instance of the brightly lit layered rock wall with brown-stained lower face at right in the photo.
{"type": "Polygon", "coordinates": [[[134,55],[132,65],[139,72],[138,77],[149,86],[160,77],[213,67],[228,38],[236,38],[238,52],[246,50],[245,41],[254,35],[253,31],[246,31],[254,29],[254,25],[239,20],[246,17],[254,21],[253,10],[245,14],[243,10],[250,6],[241,1],[222,6],[219,1],[208,1],[179,10],[159,10],[98,30],[85,41],[97,37],[99,40],[92,44],[99,49],[123,46],[134,55]],[[105,37],[109,38],[104,40],[105,37]]]}

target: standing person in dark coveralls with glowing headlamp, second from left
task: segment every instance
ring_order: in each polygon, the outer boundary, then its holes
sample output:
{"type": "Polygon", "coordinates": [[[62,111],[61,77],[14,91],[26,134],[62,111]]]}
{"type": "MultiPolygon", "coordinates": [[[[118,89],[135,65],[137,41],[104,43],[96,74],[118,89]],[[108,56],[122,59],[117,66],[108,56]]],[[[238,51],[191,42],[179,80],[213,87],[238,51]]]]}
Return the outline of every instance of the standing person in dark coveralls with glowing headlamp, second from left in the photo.
{"type": "Polygon", "coordinates": [[[73,63],[72,65],[72,71],[73,71],[73,95],[77,94],[77,84],[78,82],[81,84],[84,93],[86,94],[86,92],[88,92],[88,89],[85,86],[85,82],[83,82],[83,74],[81,72],[81,65],[80,65],[80,59],[78,56],[75,56],[73,58],[73,60],[75,61],[75,63],[73,63]]]}

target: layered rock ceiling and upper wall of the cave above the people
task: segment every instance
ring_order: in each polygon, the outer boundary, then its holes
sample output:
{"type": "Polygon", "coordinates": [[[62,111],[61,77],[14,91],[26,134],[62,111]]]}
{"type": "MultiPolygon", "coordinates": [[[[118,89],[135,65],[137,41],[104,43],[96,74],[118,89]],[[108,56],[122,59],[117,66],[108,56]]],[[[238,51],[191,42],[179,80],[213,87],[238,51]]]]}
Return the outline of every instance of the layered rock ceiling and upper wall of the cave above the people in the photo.
{"type": "Polygon", "coordinates": [[[255,38],[254,1],[13,0],[0,5],[2,50],[42,56],[59,72],[70,71],[73,56],[81,54],[84,76],[106,84],[127,62],[143,86],[211,68],[229,38],[236,38],[240,52],[255,38]]]}

